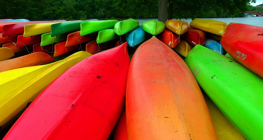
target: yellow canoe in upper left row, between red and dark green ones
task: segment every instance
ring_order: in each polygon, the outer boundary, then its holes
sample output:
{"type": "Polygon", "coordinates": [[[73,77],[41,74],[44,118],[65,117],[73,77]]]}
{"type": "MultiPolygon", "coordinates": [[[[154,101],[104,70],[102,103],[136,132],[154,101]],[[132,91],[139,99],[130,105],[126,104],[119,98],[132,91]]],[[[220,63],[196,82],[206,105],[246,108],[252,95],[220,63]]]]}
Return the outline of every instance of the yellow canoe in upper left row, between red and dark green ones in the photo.
{"type": "Polygon", "coordinates": [[[45,34],[51,32],[51,25],[60,22],[37,23],[24,26],[24,37],[45,34]]]}

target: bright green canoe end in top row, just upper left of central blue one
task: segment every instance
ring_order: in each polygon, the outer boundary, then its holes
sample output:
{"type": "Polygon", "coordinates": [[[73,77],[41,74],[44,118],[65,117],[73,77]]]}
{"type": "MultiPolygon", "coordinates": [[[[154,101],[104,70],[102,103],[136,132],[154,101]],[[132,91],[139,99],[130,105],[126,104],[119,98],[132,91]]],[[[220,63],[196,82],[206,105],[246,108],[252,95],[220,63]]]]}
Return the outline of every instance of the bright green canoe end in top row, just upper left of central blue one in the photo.
{"type": "Polygon", "coordinates": [[[118,35],[123,35],[129,31],[137,28],[139,25],[140,25],[140,23],[138,20],[129,18],[129,19],[117,22],[114,25],[114,32],[118,35]]]}

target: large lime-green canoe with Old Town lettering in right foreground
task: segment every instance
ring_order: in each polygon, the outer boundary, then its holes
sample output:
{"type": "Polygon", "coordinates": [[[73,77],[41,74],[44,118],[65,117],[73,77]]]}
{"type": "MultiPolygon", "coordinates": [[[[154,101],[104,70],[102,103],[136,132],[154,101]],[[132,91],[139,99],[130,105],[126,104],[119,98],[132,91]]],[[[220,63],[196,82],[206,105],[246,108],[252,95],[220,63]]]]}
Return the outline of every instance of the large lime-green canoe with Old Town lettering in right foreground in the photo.
{"type": "Polygon", "coordinates": [[[263,139],[263,79],[232,58],[196,45],[185,58],[198,84],[247,139],[263,139]]]}

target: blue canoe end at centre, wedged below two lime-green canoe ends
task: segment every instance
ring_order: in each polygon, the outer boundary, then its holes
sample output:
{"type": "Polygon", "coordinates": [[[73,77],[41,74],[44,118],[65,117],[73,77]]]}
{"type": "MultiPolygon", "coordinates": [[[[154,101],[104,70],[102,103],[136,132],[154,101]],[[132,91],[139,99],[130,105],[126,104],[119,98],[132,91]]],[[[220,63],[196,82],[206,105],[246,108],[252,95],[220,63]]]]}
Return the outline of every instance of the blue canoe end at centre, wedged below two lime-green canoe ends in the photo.
{"type": "Polygon", "coordinates": [[[143,30],[142,26],[137,27],[134,30],[129,31],[125,35],[125,39],[129,46],[134,47],[143,42],[147,37],[147,33],[143,30]]]}

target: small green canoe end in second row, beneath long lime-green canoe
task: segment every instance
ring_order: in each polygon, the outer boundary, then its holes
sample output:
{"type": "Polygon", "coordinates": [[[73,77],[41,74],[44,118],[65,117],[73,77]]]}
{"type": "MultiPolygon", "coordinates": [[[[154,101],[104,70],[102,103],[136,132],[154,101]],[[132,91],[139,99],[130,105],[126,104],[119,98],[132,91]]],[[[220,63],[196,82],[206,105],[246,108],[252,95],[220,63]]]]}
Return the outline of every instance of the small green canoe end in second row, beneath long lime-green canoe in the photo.
{"type": "Polygon", "coordinates": [[[114,29],[106,29],[106,30],[99,31],[96,42],[100,44],[100,43],[115,40],[118,38],[120,37],[117,34],[115,34],[114,29]]]}

